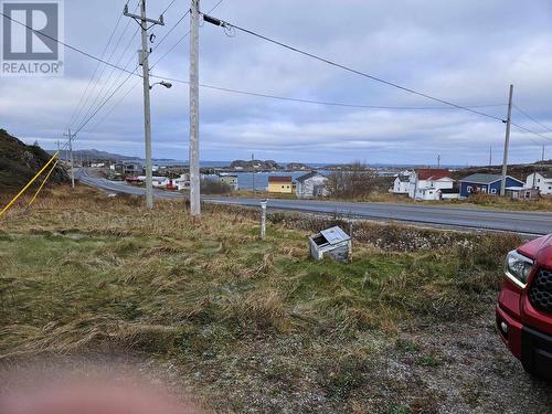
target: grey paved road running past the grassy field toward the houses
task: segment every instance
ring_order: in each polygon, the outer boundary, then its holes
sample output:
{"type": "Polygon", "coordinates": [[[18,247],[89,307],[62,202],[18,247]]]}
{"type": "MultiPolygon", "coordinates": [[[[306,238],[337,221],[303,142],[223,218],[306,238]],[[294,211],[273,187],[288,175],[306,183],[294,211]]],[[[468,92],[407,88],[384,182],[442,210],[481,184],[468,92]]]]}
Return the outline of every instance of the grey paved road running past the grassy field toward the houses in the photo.
{"type": "MultiPolygon", "coordinates": [[[[142,188],[125,182],[92,177],[79,170],[76,177],[84,183],[116,193],[142,195],[142,188]]],[[[156,191],[156,198],[178,199],[185,195],[156,191]]],[[[203,200],[217,204],[258,206],[258,199],[204,197],[203,200]]],[[[466,230],[509,231],[530,235],[552,233],[552,212],[512,212],[476,208],[414,205],[395,203],[354,203],[315,200],[269,200],[269,209],[293,210],[310,213],[338,213],[378,221],[397,221],[466,230]]]]}

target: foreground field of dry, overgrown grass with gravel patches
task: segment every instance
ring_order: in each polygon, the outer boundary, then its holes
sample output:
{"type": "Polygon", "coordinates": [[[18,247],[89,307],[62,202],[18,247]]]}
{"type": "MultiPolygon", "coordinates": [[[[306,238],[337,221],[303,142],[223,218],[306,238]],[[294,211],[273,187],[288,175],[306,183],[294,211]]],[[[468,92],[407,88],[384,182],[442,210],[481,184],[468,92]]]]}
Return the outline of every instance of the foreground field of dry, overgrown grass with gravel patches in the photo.
{"type": "Polygon", "coordinates": [[[257,222],[85,188],[11,211],[0,367],[123,353],[214,412],[552,410],[492,329],[517,236],[358,222],[352,263],[316,263],[307,236],[339,219],[272,214],[265,241],[257,222]]]}

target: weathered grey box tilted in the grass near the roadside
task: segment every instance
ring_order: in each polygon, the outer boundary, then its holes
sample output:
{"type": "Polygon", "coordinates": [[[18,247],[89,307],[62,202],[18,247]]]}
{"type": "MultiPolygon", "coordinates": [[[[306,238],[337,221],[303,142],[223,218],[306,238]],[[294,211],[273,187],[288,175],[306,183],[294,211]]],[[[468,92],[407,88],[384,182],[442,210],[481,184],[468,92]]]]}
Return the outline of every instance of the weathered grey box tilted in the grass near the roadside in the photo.
{"type": "Polygon", "coordinates": [[[351,257],[351,237],[338,226],[311,235],[309,245],[310,255],[316,261],[320,261],[325,255],[339,262],[349,262],[351,257]]]}

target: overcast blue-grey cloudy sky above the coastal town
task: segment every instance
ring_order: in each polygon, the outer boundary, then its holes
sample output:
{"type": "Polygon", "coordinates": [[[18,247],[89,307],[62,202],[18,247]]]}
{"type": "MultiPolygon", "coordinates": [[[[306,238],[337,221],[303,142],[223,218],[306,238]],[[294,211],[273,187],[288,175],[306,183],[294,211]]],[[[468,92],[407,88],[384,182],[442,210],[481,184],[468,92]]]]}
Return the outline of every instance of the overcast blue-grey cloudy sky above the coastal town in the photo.
{"type": "MultiPolygon", "coordinates": [[[[148,14],[157,18],[169,2],[150,0],[148,14]]],[[[209,11],[216,2],[202,0],[201,8],[209,11]]],[[[66,1],[65,42],[100,56],[124,3],[66,1]]],[[[137,0],[129,4],[134,9],[137,0]]],[[[157,43],[189,4],[177,0],[164,15],[167,25],[152,29],[157,43]]],[[[212,14],[425,94],[459,105],[491,105],[477,110],[500,118],[506,118],[508,86],[513,83],[514,104],[552,128],[550,0],[223,0],[212,14]]],[[[135,22],[123,18],[106,57],[123,34],[112,62],[125,66],[131,60],[129,67],[134,68],[140,44],[136,30],[135,22]]],[[[188,30],[189,18],[153,51],[151,62],[188,30]]],[[[187,79],[188,54],[187,38],[152,74],[187,79]]],[[[200,81],[213,86],[354,105],[442,106],[242,32],[227,36],[206,23],[200,28],[200,81]]],[[[54,148],[95,68],[95,61],[66,50],[64,77],[0,77],[0,127],[54,148]]],[[[105,70],[96,94],[104,85],[105,94],[127,77],[113,72],[109,76],[112,68],[105,70]]],[[[188,85],[156,87],[151,102],[153,156],[185,159],[188,85]]],[[[463,110],[336,107],[208,88],[200,92],[200,106],[202,160],[245,159],[254,152],[257,159],[277,161],[433,164],[440,155],[443,163],[484,164],[490,147],[496,162],[502,157],[503,124],[463,110]]],[[[513,121],[545,132],[516,109],[513,121]]],[[[78,125],[76,119],[72,127],[78,125]]],[[[552,134],[548,136],[552,139],[552,134]]],[[[511,161],[539,159],[544,144],[552,158],[552,141],[513,128],[511,161]]],[[[144,156],[139,77],[125,83],[83,128],[75,147],[144,156]]]]}

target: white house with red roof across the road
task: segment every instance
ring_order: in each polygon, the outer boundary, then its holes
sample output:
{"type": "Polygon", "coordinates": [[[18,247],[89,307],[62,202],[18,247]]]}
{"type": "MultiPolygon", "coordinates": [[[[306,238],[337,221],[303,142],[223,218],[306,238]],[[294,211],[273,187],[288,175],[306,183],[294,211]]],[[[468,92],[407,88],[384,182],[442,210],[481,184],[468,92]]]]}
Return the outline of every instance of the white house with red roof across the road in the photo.
{"type": "Polygon", "coordinates": [[[440,200],[440,190],[450,190],[454,180],[443,168],[420,168],[410,177],[408,197],[415,200],[440,200]]]}

